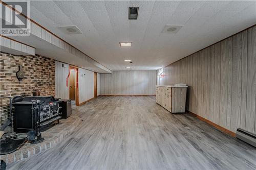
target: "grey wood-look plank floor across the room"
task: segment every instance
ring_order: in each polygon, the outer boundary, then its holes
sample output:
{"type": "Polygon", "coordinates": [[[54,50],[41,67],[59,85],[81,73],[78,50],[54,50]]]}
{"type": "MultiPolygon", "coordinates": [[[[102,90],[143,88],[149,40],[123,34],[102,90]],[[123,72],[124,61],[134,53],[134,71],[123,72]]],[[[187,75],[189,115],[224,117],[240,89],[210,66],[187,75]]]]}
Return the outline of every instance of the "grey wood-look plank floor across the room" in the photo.
{"type": "Polygon", "coordinates": [[[256,148],[153,96],[100,96],[74,107],[77,130],[9,169],[256,169],[256,148]]]}

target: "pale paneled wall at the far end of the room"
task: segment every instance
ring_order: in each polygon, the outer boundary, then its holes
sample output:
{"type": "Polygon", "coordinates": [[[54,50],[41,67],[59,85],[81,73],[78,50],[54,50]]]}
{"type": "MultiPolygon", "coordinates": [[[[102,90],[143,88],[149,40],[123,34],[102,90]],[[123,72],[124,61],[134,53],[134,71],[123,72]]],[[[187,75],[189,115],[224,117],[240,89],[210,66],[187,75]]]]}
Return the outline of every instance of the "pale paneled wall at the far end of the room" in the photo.
{"type": "Polygon", "coordinates": [[[156,71],[112,71],[100,74],[102,95],[156,94],[156,71]]]}

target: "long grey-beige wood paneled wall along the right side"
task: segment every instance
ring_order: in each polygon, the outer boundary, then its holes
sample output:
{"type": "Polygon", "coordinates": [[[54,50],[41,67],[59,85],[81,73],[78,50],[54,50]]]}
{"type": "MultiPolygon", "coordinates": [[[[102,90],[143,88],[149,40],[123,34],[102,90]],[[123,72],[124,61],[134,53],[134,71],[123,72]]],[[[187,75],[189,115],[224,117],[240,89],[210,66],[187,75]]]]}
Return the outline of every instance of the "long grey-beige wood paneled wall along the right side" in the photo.
{"type": "Polygon", "coordinates": [[[256,134],[256,26],[164,68],[160,85],[189,85],[187,110],[256,134]]]}

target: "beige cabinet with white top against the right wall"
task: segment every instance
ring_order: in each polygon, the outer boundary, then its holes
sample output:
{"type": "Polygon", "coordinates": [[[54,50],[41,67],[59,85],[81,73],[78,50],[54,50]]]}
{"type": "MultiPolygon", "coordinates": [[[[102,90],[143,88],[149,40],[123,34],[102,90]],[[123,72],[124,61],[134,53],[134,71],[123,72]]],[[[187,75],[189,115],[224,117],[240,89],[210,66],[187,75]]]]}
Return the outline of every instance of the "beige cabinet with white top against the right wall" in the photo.
{"type": "Polygon", "coordinates": [[[184,113],[188,86],[156,86],[156,103],[171,113],[184,113]]]}

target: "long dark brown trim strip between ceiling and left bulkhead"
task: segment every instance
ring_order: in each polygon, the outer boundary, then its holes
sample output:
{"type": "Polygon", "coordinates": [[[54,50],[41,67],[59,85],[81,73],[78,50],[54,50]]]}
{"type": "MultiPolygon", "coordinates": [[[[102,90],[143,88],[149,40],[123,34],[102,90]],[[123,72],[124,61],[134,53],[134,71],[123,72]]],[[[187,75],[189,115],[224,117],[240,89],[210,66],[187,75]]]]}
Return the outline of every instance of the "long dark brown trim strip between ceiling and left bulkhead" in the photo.
{"type": "MultiPolygon", "coordinates": [[[[71,44],[68,43],[67,41],[65,41],[65,40],[63,40],[62,38],[60,38],[59,36],[57,36],[56,34],[52,33],[50,30],[48,30],[48,29],[46,29],[45,27],[42,27],[41,25],[39,25],[39,23],[37,23],[36,21],[34,21],[34,20],[32,20],[31,18],[27,17],[27,16],[24,15],[23,13],[19,12],[19,11],[16,10],[15,8],[10,7],[8,4],[4,3],[3,1],[1,1],[1,3],[2,3],[4,6],[7,6],[8,8],[10,8],[10,9],[12,9],[13,11],[17,12],[19,15],[22,15],[22,16],[25,17],[26,19],[30,20],[31,22],[33,22],[33,23],[34,23],[35,25],[37,25],[38,27],[40,27],[40,28],[46,30],[47,32],[51,33],[51,34],[54,35],[55,37],[61,39],[61,40],[64,41],[64,42],[66,42],[66,43],[69,44],[70,46],[76,48],[75,46],[71,45],[71,44]]],[[[31,46],[31,47],[32,47],[32,46],[31,46]]],[[[76,48],[76,50],[78,50],[78,49],[76,48]]],[[[83,52],[80,51],[80,50],[78,50],[78,51],[81,52],[81,53],[83,53],[83,52]]],[[[94,60],[92,57],[88,56],[86,53],[83,53],[83,54],[85,54],[87,57],[89,57],[89,58],[92,59],[93,61],[99,63],[98,61],[94,60]]],[[[100,64],[100,63],[99,63],[99,64],[100,64]]],[[[100,64],[100,65],[102,65],[102,64],[100,64]]],[[[104,65],[102,65],[102,66],[104,66],[104,65]]],[[[108,68],[108,67],[106,67],[106,66],[104,66],[104,67],[105,67],[105,68],[108,68]]],[[[109,68],[108,68],[108,69],[109,69],[109,68]]],[[[111,70],[111,69],[109,69],[109,70],[111,70]]],[[[112,70],[111,70],[111,71],[112,71],[112,70]]]]}

